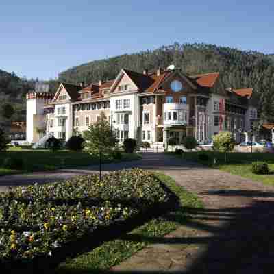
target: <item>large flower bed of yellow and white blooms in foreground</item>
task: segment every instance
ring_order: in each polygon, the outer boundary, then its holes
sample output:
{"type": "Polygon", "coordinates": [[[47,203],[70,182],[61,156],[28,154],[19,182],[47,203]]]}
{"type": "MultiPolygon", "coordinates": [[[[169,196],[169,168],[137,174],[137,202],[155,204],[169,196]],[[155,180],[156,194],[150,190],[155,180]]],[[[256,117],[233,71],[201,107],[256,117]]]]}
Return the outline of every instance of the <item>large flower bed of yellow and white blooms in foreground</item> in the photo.
{"type": "Polygon", "coordinates": [[[51,258],[70,242],[165,204],[169,195],[147,171],[89,175],[0,194],[0,260],[51,258]]]}

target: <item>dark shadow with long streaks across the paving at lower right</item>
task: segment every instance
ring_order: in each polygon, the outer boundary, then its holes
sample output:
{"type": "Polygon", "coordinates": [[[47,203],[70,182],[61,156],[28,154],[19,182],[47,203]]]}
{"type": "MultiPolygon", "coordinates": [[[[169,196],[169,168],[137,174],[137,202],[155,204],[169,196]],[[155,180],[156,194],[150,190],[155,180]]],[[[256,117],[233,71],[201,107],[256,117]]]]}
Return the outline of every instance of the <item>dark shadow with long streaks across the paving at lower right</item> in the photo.
{"type": "MultiPolygon", "coordinates": [[[[256,197],[249,206],[221,209],[184,208],[192,214],[181,221],[182,225],[210,232],[210,236],[179,238],[144,237],[123,234],[121,238],[151,244],[195,244],[206,245],[206,251],[186,257],[187,269],[174,271],[114,271],[115,273],[266,273],[274,266],[274,201],[272,192],[260,191],[212,191],[210,195],[256,197]],[[259,200],[264,198],[265,200],[259,200]],[[210,221],[209,221],[210,220],[210,221]],[[212,222],[212,220],[214,220],[212,222]]],[[[173,214],[164,218],[174,219],[173,214]]],[[[204,249],[203,249],[204,250],[204,249]]],[[[149,256],[149,253],[148,255],[149,256]]],[[[185,263],[185,262],[184,262],[185,263]]],[[[183,262],[182,262],[183,265],[183,262]]],[[[65,273],[108,273],[100,269],[66,269],[65,273]]]]}

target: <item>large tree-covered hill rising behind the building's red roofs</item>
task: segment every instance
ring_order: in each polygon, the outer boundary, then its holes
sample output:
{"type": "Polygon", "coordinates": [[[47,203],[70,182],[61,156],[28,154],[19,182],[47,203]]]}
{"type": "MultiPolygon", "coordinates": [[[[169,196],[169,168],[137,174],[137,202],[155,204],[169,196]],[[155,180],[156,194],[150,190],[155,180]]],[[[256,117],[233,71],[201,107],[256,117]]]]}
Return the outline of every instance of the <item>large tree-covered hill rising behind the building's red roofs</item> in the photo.
{"type": "Polygon", "coordinates": [[[59,79],[73,84],[88,84],[99,79],[113,79],[121,68],[142,72],[143,69],[166,68],[169,64],[175,64],[190,75],[219,71],[225,87],[253,87],[262,117],[274,122],[274,55],[254,51],[175,43],[75,66],[60,73],[59,79]]]}

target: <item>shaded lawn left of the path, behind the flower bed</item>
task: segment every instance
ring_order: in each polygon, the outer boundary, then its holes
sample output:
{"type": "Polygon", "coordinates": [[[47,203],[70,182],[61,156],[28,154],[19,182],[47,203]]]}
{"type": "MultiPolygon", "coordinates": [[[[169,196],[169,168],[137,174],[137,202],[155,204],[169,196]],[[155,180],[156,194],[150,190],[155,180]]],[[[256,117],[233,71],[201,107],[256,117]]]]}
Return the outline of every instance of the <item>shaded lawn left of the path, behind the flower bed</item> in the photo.
{"type": "MultiPolygon", "coordinates": [[[[103,162],[119,162],[138,160],[142,156],[138,153],[125,154],[122,153],[121,160],[104,159],[103,162]]],[[[67,150],[61,150],[57,152],[51,152],[46,149],[18,149],[11,148],[6,153],[0,154],[0,175],[10,175],[14,173],[27,173],[32,171],[49,171],[54,169],[73,168],[77,166],[88,166],[97,164],[98,159],[85,152],[73,152],[67,150]],[[3,169],[1,166],[5,158],[19,158],[24,161],[23,170],[3,169]]]]}

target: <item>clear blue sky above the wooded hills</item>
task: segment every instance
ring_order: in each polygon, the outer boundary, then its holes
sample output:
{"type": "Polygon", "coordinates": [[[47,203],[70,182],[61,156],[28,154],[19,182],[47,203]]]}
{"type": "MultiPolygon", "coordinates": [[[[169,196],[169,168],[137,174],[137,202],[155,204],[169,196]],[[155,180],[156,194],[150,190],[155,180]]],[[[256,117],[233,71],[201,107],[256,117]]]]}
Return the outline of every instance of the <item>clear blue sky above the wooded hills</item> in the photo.
{"type": "Polygon", "coordinates": [[[274,53],[273,15],[271,0],[1,1],[0,69],[49,79],[173,42],[274,53]]]}

